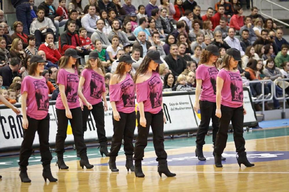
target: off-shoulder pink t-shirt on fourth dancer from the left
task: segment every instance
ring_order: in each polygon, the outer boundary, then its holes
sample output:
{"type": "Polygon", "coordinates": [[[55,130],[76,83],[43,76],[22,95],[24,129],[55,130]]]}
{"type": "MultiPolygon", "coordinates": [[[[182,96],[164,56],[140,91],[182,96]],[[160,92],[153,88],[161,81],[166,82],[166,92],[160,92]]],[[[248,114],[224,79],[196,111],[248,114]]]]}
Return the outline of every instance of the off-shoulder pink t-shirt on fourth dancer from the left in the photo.
{"type": "Polygon", "coordinates": [[[114,101],[118,112],[132,113],[135,111],[134,81],[129,73],[119,83],[109,86],[109,100],[114,101]]]}

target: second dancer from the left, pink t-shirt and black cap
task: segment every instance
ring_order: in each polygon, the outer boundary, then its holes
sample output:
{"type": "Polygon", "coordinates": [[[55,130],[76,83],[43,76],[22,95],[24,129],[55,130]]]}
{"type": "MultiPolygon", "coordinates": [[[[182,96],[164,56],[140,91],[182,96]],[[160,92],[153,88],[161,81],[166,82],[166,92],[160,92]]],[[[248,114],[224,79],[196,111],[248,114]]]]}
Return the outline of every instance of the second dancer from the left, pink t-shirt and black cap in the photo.
{"type": "Polygon", "coordinates": [[[80,154],[80,166],[87,169],[93,168],[90,165],[86,153],[82,132],[82,114],[79,98],[85,103],[88,109],[91,104],[78,91],[79,78],[77,74],[78,61],[77,52],[74,49],[67,49],[59,60],[56,83],[59,87],[59,94],[56,99],[57,134],[55,140],[55,152],[57,153],[57,164],[59,169],[68,169],[63,160],[64,142],[66,138],[68,120],[70,121],[74,136],[77,153],[80,154]],[[79,97],[78,97],[79,96],[79,97]]]}

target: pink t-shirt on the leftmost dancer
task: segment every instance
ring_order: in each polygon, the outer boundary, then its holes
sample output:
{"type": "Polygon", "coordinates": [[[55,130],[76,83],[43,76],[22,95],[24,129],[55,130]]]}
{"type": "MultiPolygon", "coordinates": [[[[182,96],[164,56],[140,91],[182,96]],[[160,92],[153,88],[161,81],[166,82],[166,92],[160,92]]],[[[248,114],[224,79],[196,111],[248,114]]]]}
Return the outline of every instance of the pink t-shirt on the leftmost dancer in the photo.
{"type": "Polygon", "coordinates": [[[25,91],[28,94],[26,114],[34,119],[44,119],[49,109],[48,87],[45,78],[24,77],[21,83],[21,94],[25,91]]]}

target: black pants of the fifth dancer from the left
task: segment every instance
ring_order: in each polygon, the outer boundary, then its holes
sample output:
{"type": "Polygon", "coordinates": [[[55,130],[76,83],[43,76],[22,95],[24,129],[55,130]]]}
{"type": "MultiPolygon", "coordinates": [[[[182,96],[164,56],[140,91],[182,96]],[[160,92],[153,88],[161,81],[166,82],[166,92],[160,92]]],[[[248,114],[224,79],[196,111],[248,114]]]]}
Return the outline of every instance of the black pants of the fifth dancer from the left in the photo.
{"type": "Polygon", "coordinates": [[[144,112],[144,117],[147,120],[147,127],[140,125],[140,112],[136,114],[138,120],[138,137],[134,147],[134,160],[142,161],[144,157],[144,148],[147,146],[147,137],[149,136],[149,128],[153,131],[153,147],[157,155],[156,161],[166,159],[167,154],[164,150],[164,113],[161,110],[157,114],[144,112]]]}

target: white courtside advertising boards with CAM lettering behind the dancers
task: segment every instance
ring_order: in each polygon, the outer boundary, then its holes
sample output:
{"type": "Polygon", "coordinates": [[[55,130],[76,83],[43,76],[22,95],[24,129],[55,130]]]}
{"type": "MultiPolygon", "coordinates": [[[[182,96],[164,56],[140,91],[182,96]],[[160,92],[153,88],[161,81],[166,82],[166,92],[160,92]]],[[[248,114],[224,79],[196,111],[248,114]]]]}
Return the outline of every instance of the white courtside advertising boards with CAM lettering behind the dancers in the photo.
{"type": "MultiPolygon", "coordinates": [[[[182,134],[196,131],[200,123],[200,114],[195,113],[193,104],[195,101],[194,92],[170,92],[163,93],[164,114],[166,123],[164,125],[164,134],[182,134]]],[[[244,116],[244,126],[255,125],[257,122],[255,111],[252,107],[252,100],[249,89],[244,88],[244,103],[247,115],[244,116]]],[[[16,107],[21,107],[20,104],[16,107]]],[[[55,101],[50,101],[50,133],[49,142],[51,146],[55,144],[57,132],[57,118],[55,112],[55,101]]],[[[105,112],[105,132],[108,139],[113,135],[112,126],[112,107],[108,100],[108,111],[105,112]]],[[[0,150],[10,151],[19,150],[23,140],[22,115],[16,115],[11,109],[0,107],[0,150]]],[[[211,124],[210,124],[211,125],[211,124]]],[[[150,130],[150,134],[152,134],[150,130]]],[[[137,128],[135,130],[137,135],[137,128]]],[[[85,142],[97,142],[97,132],[95,122],[90,114],[88,119],[87,131],[84,133],[85,142]]],[[[65,144],[73,144],[73,135],[70,124],[67,128],[67,138],[65,144]]],[[[35,135],[34,148],[39,146],[38,134],[35,135]]]]}

